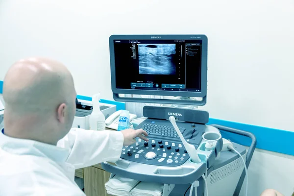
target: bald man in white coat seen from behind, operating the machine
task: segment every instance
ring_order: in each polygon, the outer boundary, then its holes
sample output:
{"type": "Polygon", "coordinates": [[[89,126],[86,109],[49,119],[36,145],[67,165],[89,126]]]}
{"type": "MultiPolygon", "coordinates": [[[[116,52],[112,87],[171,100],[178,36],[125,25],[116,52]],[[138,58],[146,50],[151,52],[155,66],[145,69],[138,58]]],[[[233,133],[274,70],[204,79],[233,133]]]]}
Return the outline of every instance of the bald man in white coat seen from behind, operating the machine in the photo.
{"type": "MultiPolygon", "coordinates": [[[[4,78],[4,129],[0,133],[1,196],[84,196],[74,171],[115,162],[140,130],[71,129],[76,92],[73,77],[59,62],[20,60],[4,78]]],[[[145,135],[145,136],[144,136],[145,135]]]]}

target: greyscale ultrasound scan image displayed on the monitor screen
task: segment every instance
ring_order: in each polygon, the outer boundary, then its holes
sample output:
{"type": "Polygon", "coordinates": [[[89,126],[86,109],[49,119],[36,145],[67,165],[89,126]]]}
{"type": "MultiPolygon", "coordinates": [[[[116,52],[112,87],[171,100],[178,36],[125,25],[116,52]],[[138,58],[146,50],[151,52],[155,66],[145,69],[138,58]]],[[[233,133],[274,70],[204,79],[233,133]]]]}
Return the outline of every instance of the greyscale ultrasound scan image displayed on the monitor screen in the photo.
{"type": "Polygon", "coordinates": [[[139,44],[140,74],[175,74],[175,44],[139,44]]]}

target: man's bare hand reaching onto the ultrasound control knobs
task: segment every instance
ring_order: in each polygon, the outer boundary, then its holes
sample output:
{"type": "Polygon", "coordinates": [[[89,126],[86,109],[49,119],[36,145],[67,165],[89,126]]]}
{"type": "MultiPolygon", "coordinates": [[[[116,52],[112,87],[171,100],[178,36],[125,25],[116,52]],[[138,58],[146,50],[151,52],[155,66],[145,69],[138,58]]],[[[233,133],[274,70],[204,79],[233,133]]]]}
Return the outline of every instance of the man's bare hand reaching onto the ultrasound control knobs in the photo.
{"type": "Polygon", "coordinates": [[[148,136],[148,134],[143,129],[125,129],[121,132],[123,133],[123,146],[130,146],[134,144],[136,142],[136,137],[139,137],[146,142],[149,141],[149,139],[145,137],[148,136]],[[142,134],[144,134],[145,136],[142,134]]]}

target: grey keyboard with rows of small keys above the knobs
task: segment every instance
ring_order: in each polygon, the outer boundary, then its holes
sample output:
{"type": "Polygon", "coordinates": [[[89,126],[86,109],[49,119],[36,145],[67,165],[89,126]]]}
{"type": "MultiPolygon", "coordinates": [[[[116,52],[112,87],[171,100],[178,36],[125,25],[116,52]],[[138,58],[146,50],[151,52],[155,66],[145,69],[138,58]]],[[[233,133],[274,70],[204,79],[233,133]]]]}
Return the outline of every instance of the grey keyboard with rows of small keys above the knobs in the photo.
{"type": "MultiPolygon", "coordinates": [[[[180,138],[176,131],[174,130],[173,126],[168,125],[159,125],[153,123],[145,123],[142,126],[142,129],[145,130],[148,135],[154,136],[162,136],[162,137],[169,137],[169,138],[180,138]]],[[[183,127],[179,127],[181,133],[186,130],[183,127]]]]}

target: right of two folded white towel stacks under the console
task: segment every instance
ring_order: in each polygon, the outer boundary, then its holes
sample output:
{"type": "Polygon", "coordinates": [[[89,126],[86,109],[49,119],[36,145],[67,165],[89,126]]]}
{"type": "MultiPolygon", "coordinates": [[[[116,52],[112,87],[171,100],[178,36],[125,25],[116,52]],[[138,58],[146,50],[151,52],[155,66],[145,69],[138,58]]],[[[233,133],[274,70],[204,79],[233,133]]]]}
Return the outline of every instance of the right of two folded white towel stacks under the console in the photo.
{"type": "Polygon", "coordinates": [[[162,196],[163,184],[141,182],[130,193],[130,196],[162,196]]]}

